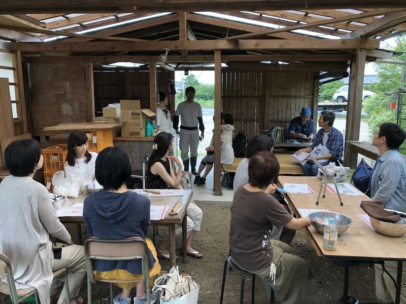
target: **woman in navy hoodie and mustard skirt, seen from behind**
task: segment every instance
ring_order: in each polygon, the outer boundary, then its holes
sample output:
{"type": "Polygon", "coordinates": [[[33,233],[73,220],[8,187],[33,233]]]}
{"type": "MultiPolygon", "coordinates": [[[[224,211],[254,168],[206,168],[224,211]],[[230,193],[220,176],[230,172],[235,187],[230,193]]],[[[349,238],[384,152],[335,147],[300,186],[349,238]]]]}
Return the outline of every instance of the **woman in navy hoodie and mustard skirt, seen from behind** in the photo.
{"type": "MultiPolygon", "coordinates": [[[[130,178],[131,166],[125,151],[119,147],[105,148],[97,156],[95,176],[103,190],[93,193],[84,201],[83,219],[90,237],[125,239],[140,237],[146,240],[149,252],[149,277],[159,275],[156,250],[146,236],[150,227],[150,201],[147,197],[127,191],[125,182],[130,178]]],[[[142,282],[140,260],[93,261],[94,275],[100,279],[139,279],[137,283],[117,283],[122,292],[114,297],[115,304],[131,303],[131,288],[137,286],[134,304],[147,302],[145,283],[142,282]]],[[[147,291],[149,292],[149,290],[147,291]]],[[[151,303],[156,300],[151,294],[151,303]]]]}

